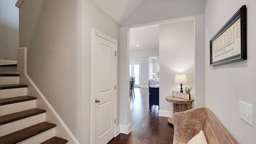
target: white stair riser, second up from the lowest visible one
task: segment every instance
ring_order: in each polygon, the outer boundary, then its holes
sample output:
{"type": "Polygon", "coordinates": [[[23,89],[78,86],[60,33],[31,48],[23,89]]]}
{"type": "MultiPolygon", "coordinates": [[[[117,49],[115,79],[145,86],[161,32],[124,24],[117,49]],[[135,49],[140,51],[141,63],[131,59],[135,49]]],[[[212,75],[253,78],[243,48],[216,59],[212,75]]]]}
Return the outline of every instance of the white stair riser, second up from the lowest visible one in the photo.
{"type": "Polygon", "coordinates": [[[28,118],[23,118],[21,120],[16,120],[14,122],[9,122],[7,124],[2,124],[0,126],[0,136],[10,134],[17,130],[21,130],[29,126],[33,126],[35,124],[38,124],[44,121],[45,121],[45,113],[42,113],[42,114],[37,114],[35,116],[30,116],[28,118]]]}

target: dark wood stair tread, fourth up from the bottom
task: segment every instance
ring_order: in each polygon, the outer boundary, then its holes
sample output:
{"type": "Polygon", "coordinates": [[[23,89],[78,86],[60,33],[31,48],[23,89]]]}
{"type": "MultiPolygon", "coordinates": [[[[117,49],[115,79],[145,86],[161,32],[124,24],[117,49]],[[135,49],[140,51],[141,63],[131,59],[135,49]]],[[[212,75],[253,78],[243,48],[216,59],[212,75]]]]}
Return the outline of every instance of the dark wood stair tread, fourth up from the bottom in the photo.
{"type": "Polygon", "coordinates": [[[3,98],[0,99],[0,106],[5,105],[5,104],[13,104],[17,102],[25,102],[28,100],[35,100],[35,96],[17,96],[13,98],[3,98]]]}

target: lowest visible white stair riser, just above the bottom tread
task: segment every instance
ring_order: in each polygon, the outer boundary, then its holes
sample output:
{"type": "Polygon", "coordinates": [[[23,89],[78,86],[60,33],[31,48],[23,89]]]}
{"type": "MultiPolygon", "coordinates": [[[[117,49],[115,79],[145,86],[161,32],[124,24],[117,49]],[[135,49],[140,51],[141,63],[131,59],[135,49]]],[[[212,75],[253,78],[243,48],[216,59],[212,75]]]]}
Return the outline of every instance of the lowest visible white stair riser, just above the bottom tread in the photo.
{"type": "Polygon", "coordinates": [[[41,134],[38,134],[36,136],[23,140],[22,142],[18,142],[17,144],[40,144],[41,142],[44,142],[54,137],[55,131],[56,131],[55,128],[52,128],[50,130],[42,132],[41,134]]]}

